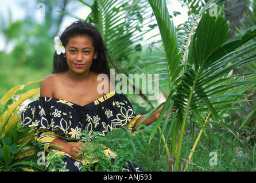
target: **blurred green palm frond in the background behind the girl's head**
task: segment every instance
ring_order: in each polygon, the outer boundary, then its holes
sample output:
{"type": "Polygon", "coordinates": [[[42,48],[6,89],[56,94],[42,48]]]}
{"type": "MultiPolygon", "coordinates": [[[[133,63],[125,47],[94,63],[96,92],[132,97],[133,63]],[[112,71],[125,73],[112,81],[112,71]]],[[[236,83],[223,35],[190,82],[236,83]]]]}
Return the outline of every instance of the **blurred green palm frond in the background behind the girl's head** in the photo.
{"type": "Polygon", "coordinates": [[[141,31],[143,16],[148,16],[146,1],[95,0],[87,18],[100,31],[107,48],[113,54],[114,67],[129,61],[135,46],[146,31],[141,31]]]}

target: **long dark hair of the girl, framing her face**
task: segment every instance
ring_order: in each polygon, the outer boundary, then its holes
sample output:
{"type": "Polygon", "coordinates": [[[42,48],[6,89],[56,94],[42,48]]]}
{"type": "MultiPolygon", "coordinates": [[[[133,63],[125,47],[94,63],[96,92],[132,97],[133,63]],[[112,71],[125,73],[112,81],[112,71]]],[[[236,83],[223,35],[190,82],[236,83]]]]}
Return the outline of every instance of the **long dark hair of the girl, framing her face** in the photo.
{"type": "MultiPolygon", "coordinates": [[[[83,34],[89,35],[95,51],[98,51],[98,57],[92,61],[90,70],[96,73],[107,74],[110,77],[110,69],[108,67],[108,59],[111,59],[110,54],[99,31],[91,23],[83,21],[73,22],[60,35],[60,40],[65,47],[68,41],[75,37],[75,35],[83,34]]],[[[58,55],[55,51],[53,55],[53,73],[61,73],[66,70],[68,70],[67,59],[63,57],[63,53],[58,55]]]]}

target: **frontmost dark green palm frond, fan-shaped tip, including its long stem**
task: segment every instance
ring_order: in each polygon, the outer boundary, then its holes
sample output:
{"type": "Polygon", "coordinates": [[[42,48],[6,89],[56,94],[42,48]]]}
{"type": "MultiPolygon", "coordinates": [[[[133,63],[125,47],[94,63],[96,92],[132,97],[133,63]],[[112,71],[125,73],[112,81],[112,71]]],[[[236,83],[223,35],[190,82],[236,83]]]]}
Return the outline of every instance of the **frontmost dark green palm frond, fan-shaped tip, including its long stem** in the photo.
{"type": "MultiPolygon", "coordinates": [[[[181,142],[183,138],[183,130],[185,129],[185,122],[187,121],[185,118],[189,114],[189,108],[193,108],[191,112],[195,114],[196,120],[199,122],[200,128],[203,130],[203,132],[205,132],[203,121],[201,120],[199,112],[197,111],[197,108],[199,108],[200,105],[203,104],[208,109],[208,112],[211,113],[212,117],[214,117],[216,122],[221,122],[222,118],[219,117],[219,114],[216,111],[216,107],[209,100],[212,94],[216,93],[221,96],[222,93],[230,92],[231,89],[234,89],[238,86],[256,83],[255,81],[239,81],[222,84],[222,86],[219,87],[209,87],[211,86],[212,82],[214,82],[215,84],[221,84],[221,82],[218,82],[218,80],[216,79],[222,77],[231,69],[234,69],[235,67],[242,65],[243,63],[250,62],[255,58],[255,55],[251,55],[251,57],[239,59],[239,57],[241,57],[242,55],[249,53],[251,49],[255,49],[255,46],[242,52],[234,51],[234,49],[241,46],[249,39],[255,37],[256,32],[253,30],[254,29],[250,30],[250,34],[245,33],[231,41],[226,42],[230,31],[228,30],[228,26],[226,21],[224,21],[224,18],[219,16],[216,18],[210,17],[210,15],[208,14],[203,15],[199,26],[196,29],[196,34],[192,39],[191,47],[189,49],[188,60],[191,63],[192,67],[189,70],[189,74],[184,76],[185,81],[188,81],[188,79],[190,78],[193,85],[191,85],[191,83],[190,85],[187,85],[191,90],[187,88],[188,90],[185,93],[188,93],[189,95],[183,98],[183,100],[187,100],[187,104],[184,105],[184,118],[181,127],[177,158],[179,158],[181,142]],[[233,45],[231,46],[232,49],[230,49],[230,47],[226,47],[226,45],[228,45],[228,43],[230,42],[233,42],[233,45]],[[215,56],[217,51],[219,54],[215,56]],[[222,55],[225,55],[230,51],[233,51],[232,57],[221,57],[222,55]],[[214,60],[214,57],[215,59],[219,59],[214,60]],[[236,62],[226,67],[227,63],[229,63],[231,60],[235,60],[236,62]]],[[[183,89],[185,89],[184,83],[181,82],[181,86],[179,87],[183,87],[183,89]]],[[[182,92],[184,93],[184,91],[182,92]]],[[[238,96],[236,96],[236,98],[237,97],[238,96]]],[[[228,97],[226,96],[226,100],[227,98],[228,97]]],[[[226,102],[225,104],[227,106],[227,104],[230,103],[226,102]]],[[[222,126],[224,126],[224,124],[222,124],[222,126]]]]}

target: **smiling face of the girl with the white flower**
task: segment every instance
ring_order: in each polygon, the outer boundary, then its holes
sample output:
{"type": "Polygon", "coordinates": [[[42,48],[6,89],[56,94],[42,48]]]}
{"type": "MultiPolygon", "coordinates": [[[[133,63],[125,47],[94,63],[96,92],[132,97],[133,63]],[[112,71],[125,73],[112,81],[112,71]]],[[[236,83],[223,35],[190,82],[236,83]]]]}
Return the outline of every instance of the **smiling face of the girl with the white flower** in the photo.
{"type": "Polygon", "coordinates": [[[76,74],[88,73],[92,61],[97,58],[89,35],[76,35],[68,41],[64,58],[67,59],[69,71],[76,74]]]}

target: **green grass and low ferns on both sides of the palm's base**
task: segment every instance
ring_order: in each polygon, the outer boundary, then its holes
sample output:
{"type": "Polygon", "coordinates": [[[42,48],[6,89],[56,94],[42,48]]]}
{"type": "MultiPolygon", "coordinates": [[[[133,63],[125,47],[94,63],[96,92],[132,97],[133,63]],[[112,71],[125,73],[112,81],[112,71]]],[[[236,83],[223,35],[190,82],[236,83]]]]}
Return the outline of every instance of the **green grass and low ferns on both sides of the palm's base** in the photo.
{"type": "MultiPolygon", "coordinates": [[[[148,144],[151,130],[152,126],[149,126],[133,137],[122,129],[114,130],[107,134],[108,140],[104,144],[114,151],[120,152],[121,148],[127,159],[145,171],[168,172],[170,170],[169,163],[162,144],[159,145],[159,134],[156,134],[156,137],[148,144]]],[[[180,170],[184,170],[193,142],[197,137],[196,132],[194,138],[192,138],[191,132],[187,133],[183,141],[180,170]]],[[[242,144],[230,132],[224,130],[207,129],[207,134],[209,138],[201,136],[192,160],[189,162],[187,172],[256,171],[255,138],[249,140],[246,138],[249,137],[246,134],[243,137],[238,134],[243,141],[242,144]],[[211,152],[217,154],[217,165],[210,165],[211,152]]]]}

